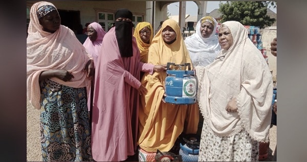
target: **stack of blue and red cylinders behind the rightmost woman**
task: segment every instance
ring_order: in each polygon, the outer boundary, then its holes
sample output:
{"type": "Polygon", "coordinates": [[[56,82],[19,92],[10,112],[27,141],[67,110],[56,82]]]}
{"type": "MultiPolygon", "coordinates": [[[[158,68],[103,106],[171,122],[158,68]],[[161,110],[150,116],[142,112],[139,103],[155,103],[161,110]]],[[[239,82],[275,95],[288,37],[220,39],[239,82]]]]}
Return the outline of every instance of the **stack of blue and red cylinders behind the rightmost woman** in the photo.
{"type": "Polygon", "coordinates": [[[247,29],[248,37],[255,44],[268,63],[267,50],[262,49],[262,35],[260,34],[260,28],[255,26],[245,26],[245,28],[247,29]]]}

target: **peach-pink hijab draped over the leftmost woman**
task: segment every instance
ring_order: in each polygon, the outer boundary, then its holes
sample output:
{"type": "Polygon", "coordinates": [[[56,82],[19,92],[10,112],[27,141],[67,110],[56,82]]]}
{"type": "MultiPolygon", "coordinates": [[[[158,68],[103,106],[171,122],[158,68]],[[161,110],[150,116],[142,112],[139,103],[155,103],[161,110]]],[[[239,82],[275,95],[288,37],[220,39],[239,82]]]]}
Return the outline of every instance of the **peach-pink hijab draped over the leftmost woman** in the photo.
{"type": "Polygon", "coordinates": [[[90,56],[69,28],[60,26],[54,33],[42,30],[36,10],[43,5],[54,6],[49,2],[38,2],[32,6],[27,37],[27,97],[37,109],[40,109],[38,78],[43,71],[67,70],[75,77],[71,81],[64,82],[55,77],[50,79],[75,88],[90,87],[90,80],[84,71],[85,63],[90,60],[90,56]]]}

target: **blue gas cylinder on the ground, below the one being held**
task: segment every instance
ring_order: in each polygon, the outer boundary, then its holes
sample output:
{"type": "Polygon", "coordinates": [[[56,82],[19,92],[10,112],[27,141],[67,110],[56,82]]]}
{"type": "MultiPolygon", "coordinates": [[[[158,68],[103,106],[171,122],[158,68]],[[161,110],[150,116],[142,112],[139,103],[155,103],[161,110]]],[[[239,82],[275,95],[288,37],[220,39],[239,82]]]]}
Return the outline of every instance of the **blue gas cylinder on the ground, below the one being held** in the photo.
{"type": "Polygon", "coordinates": [[[183,136],[180,143],[179,155],[182,161],[198,161],[200,151],[200,136],[196,134],[187,134],[183,136]]]}

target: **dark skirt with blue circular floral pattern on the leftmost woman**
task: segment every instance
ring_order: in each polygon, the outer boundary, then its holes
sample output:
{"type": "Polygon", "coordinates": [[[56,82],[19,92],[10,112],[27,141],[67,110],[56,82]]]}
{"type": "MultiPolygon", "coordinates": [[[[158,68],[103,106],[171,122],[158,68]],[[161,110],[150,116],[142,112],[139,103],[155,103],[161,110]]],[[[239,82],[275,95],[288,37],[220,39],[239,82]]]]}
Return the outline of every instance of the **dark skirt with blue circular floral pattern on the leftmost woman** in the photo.
{"type": "Polygon", "coordinates": [[[86,88],[40,83],[43,161],[93,161],[86,88]]]}

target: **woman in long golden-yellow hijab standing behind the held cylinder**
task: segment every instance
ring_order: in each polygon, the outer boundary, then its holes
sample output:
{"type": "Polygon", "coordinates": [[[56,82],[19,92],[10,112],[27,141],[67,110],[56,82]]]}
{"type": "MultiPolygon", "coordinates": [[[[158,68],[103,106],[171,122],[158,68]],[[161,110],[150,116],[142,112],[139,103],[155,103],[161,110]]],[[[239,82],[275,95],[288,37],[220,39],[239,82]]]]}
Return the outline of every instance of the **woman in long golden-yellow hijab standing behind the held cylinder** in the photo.
{"type": "MultiPolygon", "coordinates": [[[[154,65],[192,63],[175,20],[167,19],[153,37],[148,63],[154,65]]],[[[179,105],[164,102],[166,72],[145,73],[141,82],[148,91],[141,96],[139,112],[139,153],[167,152],[181,133],[196,133],[199,123],[197,104],[179,105]]],[[[144,161],[147,159],[139,159],[144,161]]]]}

